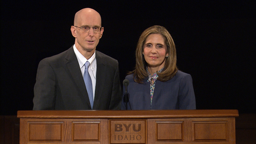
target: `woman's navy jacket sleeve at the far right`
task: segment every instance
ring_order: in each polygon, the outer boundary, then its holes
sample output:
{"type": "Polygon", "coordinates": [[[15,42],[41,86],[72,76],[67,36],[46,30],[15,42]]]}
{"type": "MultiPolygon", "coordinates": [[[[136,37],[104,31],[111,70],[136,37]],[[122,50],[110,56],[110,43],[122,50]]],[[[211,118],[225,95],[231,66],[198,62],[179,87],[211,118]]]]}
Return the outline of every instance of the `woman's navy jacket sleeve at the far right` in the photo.
{"type": "Polygon", "coordinates": [[[180,82],[179,109],[195,109],[195,95],[190,74],[185,75],[180,82]]]}

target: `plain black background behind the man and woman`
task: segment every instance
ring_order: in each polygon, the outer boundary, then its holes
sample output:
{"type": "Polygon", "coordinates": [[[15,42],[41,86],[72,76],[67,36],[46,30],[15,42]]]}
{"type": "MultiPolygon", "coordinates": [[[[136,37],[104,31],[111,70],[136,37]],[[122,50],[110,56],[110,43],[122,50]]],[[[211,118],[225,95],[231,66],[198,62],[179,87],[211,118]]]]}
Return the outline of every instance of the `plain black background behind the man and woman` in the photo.
{"type": "Polygon", "coordinates": [[[255,113],[255,1],[1,1],[0,115],[32,110],[42,58],[74,44],[70,27],[85,7],[104,27],[97,50],[119,62],[120,79],[135,65],[148,27],[168,29],[177,65],[193,78],[197,109],[255,113]]]}

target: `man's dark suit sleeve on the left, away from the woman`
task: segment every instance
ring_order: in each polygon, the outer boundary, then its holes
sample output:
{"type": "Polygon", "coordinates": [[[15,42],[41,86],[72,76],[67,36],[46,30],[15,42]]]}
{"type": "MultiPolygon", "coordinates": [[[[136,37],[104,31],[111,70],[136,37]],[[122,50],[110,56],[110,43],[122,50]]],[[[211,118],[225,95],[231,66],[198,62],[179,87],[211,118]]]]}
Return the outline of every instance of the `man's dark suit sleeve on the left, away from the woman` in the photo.
{"type": "Polygon", "coordinates": [[[33,110],[53,110],[55,108],[55,74],[46,59],[41,60],[37,68],[34,86],[33,110]]]}

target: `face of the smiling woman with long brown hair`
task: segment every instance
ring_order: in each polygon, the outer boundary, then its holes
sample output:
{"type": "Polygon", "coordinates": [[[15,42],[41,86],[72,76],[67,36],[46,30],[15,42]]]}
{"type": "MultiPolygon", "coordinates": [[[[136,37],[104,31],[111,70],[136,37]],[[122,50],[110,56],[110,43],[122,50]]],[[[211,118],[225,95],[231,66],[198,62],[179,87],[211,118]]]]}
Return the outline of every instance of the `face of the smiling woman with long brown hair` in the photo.
{"type": "Polygon", "coordinates": [[[144,45],[144,58],[148,67],[156,67],[161,70],[165,64],[167,46],[161,34],[150,34],[147,36],[144,45]]]}

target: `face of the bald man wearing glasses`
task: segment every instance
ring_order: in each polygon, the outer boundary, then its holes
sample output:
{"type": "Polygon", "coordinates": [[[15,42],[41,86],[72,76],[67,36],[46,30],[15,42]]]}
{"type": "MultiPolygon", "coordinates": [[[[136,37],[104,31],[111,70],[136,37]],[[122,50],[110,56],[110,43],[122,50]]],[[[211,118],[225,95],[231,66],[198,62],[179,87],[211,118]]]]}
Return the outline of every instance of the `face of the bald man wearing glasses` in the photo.
{"type": "Polygon", "coordinates": [[[101,18],[97,14],[80,14],[77,19],[77,24],[74,27],[76,31],[76,47],[80,51],[94,52],[103,34],[103,28],[100,33],[93,31],[93,26],[101,27],[101,18]],[[85,32],[79,27],[91,27],[88,32],[85,32]]]}

